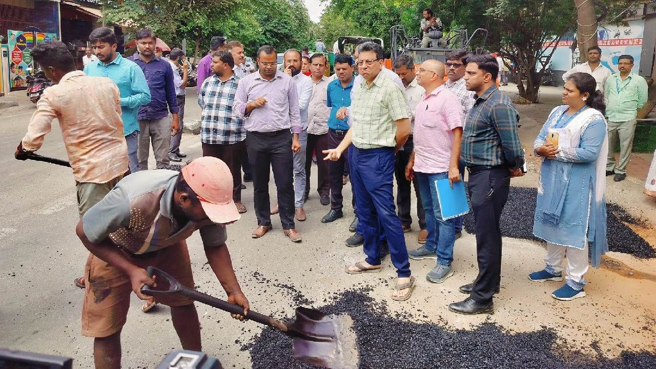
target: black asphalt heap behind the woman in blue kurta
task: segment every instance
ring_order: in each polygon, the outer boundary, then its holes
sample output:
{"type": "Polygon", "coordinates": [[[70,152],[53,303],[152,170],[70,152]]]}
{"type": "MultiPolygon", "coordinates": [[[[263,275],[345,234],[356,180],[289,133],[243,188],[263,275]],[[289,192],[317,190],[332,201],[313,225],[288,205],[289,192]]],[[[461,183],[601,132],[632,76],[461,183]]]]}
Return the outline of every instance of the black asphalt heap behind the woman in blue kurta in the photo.
{"type": "MultiPolygon", "coordinates": [[[[537,189],[529,187],[510,187],[508,202],[501,214],[501,233],[503,236],[537,240],[533,236],[533,215],[537,189]]],[[[468,233],[474,233],[474,213],[464,216],[464,228],[468,233]]],[[[628,253],[640,258],[656,257],[656,250],[626,225],[645,227],[644,221],[630,216],[626,210],[617,204],[607,204],[607,237],[610,251],[628,253]]]]}

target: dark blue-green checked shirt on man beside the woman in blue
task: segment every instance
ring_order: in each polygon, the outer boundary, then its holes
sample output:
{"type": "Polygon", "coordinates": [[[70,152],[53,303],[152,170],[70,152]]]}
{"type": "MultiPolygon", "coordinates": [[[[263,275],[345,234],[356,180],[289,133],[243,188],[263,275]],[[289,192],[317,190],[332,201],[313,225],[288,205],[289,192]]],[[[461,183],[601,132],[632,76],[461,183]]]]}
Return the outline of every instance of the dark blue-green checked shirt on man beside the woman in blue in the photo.
{"type": "Polygon", "coordinates": [[[512,169],[524,164],[517,133],[520,118],[510,98],[490,87],[476,96],[462,133],[461,158],[467,166],[503,165],[512,169]]]}

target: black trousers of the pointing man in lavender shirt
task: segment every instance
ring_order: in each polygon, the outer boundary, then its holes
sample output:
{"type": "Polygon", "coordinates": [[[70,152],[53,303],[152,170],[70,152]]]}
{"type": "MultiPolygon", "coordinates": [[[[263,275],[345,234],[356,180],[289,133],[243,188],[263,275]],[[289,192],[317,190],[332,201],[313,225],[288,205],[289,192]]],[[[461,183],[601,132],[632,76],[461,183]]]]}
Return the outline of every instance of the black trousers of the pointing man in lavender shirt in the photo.
{"type": "Polygon", "coordinates": [[[246,133],[246,146],[253,175],[253,200],[257,225],[271,225],[269,173],[273,170],[283,229],[295,228],[291,135],[289,129],[246,133]]]}

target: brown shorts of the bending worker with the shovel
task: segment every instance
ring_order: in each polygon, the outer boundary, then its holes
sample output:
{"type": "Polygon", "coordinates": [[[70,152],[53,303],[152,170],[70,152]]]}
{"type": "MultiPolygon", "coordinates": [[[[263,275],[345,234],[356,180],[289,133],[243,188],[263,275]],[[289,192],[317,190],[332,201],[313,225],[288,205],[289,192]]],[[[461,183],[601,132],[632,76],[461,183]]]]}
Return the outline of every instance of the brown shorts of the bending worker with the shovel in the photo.
{"type": "MultiPolygon", "coordinates": [[[[192,265],[185,241],[153,254],[131,257],[131,262],[144,269],[149,265],[157,267],[171,274],[180,284],[194,288],[192,265]]],[[[107,337],[119,332],[125,324],[130,308],[130,278],[117,267],[92,254],[87,260],[85,276],[87,283],[82,307],[82,336],[107,337]]],[[[155,301],[169,306],[184,306],[194,302],[177,295],[155,297],[155,301]]]]}

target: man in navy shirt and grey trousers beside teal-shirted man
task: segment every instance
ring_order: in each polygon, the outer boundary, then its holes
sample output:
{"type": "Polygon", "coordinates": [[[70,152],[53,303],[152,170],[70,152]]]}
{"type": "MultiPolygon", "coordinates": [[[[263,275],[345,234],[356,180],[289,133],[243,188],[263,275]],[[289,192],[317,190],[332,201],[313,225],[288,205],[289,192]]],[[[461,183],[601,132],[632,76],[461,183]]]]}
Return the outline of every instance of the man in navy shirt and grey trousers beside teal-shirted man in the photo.
{"type": "Polygon", "coordinates": [[[173,83],[173,68],[166,60],[155,56],[155,33],[143,29],[136,32],[136,48],[139,54],[130,60],[135,62],[146,76],[150,87],[150,104],[140,106],[139,118],[139,148],[136,155],[139,159],[139,170],[148,169],[148,152],[150,142],[153,144],[153,154],[157,168],[169,165],[169,145],[171,136],[178,133],[178,100],[173,83]],[[169,110],[173,121],[169,118],[169,110]]]}

